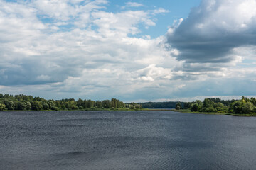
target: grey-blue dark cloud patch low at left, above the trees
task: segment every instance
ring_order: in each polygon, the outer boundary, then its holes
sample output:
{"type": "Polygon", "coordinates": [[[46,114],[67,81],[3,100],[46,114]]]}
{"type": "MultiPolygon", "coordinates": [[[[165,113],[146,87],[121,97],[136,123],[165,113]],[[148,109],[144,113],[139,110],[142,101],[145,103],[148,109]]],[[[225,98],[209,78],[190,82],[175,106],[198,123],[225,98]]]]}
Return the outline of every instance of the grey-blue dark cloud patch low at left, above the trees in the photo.
{"type": "Polygon", "coordinates": [[[60,65],[49,66],[41,60],[16,60],[12,64],[0,64],[0,85],[33,85],[62,82],[70,75],[79,75],[78,67],[63,62],[60,65]],[[77,68],[77,69],[75,69],[77,68]]]}

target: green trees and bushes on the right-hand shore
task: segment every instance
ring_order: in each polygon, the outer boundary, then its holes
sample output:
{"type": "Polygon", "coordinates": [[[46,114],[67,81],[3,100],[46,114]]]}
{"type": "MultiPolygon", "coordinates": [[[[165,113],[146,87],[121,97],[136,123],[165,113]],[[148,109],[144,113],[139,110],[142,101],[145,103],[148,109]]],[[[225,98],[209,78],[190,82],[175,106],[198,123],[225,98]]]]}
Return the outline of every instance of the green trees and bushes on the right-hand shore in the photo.
{"type": "MultiPolygon", "coordinates": [[[[242,96],[240,100],[221,100],[220,98],[205,98],[188,103],[192,112],[217,112],[235,114],[256,114],[256,98],[242,96]]],[[[180,102],[176,103],[177,110],[183,108],[180,102]]]]}

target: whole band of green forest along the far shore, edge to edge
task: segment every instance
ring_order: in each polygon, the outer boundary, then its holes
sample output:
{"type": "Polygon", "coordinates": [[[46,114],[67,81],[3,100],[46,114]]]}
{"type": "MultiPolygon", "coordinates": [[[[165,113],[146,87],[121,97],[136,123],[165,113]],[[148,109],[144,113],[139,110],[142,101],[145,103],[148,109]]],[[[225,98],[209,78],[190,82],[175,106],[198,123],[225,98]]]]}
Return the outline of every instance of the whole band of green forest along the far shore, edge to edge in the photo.
{"type": "Polygon", "coordinates": [[[193,102],[146,102],[124,103],[116,98],[111,100],[92,101],[79,98],[61,100],[46,100],[30,95],[0,94],[0,111],[68,111],[68,110],[139,110],[142,108],[176,108],[190,109],[191,112],[256,114],[256,98],[242,96],[240,100],[221,100],[220,98],[205,98],[193,102]]]}

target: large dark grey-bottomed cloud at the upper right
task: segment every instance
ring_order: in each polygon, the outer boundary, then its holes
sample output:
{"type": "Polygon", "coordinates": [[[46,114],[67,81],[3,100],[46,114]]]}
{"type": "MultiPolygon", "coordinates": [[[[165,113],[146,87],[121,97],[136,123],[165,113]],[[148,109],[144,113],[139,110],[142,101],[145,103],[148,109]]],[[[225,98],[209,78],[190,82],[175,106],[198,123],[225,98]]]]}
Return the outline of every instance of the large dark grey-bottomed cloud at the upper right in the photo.
{"type": "Polygon", "coordinates": [[[188,18],[169,28],[168,42],[186,63],[239,61],[238,47],[256,47],[255,0],[203,0],[188,18]]]}

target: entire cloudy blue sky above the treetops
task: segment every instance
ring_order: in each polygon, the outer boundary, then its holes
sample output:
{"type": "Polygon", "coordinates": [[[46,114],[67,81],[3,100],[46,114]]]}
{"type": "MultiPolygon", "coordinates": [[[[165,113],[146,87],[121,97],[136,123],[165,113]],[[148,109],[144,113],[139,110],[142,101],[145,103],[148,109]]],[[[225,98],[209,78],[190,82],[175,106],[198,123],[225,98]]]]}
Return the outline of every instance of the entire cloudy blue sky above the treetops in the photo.
{"type": "Polygon", "coordinates": [[[0,93],[256,95],[256,0],[0,0],[0,93]]]}

